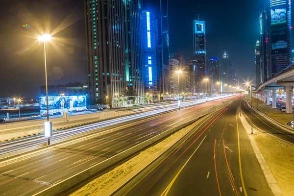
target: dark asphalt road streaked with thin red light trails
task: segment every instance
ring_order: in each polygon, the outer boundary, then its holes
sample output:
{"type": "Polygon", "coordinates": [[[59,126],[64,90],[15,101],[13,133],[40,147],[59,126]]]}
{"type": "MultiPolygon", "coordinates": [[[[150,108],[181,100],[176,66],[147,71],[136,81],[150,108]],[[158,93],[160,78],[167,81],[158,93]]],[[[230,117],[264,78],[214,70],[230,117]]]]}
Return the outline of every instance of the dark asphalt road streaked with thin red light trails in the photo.
{"type": "Polygon", "coordinates": [[[238,105],[196,126],[115,196],[273,196],[236,117],[238,105]]]}

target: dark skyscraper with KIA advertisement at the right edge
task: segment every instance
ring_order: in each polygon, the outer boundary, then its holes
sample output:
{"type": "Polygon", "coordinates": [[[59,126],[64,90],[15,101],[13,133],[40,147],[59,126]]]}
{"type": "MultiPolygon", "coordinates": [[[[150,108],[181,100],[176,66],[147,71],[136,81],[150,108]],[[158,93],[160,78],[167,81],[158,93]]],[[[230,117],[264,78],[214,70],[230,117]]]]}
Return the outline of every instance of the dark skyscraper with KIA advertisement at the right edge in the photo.
{"type": "Polygon", "coordinates": [[[291,1],[270,0],[270,77],[292,62],[291,1]]]}

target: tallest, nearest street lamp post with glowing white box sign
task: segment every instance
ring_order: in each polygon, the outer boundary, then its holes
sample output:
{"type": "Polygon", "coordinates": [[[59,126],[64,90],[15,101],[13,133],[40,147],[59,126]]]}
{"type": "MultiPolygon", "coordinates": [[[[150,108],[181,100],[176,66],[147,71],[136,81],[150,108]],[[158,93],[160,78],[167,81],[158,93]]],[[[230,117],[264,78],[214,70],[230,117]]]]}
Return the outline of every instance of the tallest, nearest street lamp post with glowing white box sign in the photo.
{"type": "Polygon", "coordinates": [[[44,123],[45,137],[48,136],[48,145],[50,145],[50,137],[52,136],[52,124],[49,122],[49,100],[48,100],[48,83],[47,83],[47,64],[46,64],[46,42],[52,40],[51,35],[43,34],[38,37],[40,42],[44,42],[44,60],[45,60],[45,86],[46,86],[46,109],[47,109],[47,123],[44,123]],[[46,125],[45,125],[46,124],[46,125]],[[47,128],[47,129],[46,129],[47,128]],[[49,133],[46,130],[49,129],[49,133]]]}

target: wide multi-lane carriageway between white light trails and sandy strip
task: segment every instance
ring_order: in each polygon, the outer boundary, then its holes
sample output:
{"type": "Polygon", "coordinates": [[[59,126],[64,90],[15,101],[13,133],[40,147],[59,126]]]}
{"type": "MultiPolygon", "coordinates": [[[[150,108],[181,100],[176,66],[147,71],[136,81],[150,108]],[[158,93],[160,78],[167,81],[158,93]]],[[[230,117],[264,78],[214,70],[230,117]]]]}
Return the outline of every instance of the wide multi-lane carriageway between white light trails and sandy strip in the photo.
{"type": "Polygon", "coordinates": [[[103,133],[0,165],[0,195],[30,196],[185,123],[234,98],[218,99],[160,117],[110,127],[103,133]]]}

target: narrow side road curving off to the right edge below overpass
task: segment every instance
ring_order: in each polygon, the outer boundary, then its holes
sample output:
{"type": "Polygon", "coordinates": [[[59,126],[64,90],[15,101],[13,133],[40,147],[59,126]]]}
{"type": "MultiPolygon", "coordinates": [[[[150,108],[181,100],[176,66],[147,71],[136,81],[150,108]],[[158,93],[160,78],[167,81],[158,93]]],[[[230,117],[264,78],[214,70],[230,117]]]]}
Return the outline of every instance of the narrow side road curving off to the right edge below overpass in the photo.
{"type": "MultiPolygon", "coordinates": [[[[246,121],[251,124],[250,107],[247,105],[244,99],[241,99],[241,108],[245,113],[246,121]]],[[[294,146],[294,132],[290,130],[284,130],[280,126],[277,126],[274,123],[267,121],[263,116],[261,116],[257,112],[254,112],[254,110],[252,110],[252,121],[253,127],[257,130],[267,134],[268,136],[280,142],[294,146]]]]}

